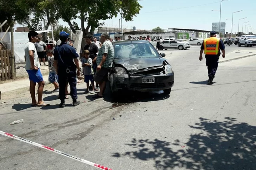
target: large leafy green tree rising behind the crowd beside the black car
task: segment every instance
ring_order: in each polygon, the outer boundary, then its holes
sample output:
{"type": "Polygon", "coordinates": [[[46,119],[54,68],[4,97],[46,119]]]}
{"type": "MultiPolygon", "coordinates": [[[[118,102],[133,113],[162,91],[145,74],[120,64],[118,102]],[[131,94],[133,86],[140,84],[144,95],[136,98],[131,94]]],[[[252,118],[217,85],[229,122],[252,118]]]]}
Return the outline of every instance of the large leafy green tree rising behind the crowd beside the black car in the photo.
{"type": "Polygon", "coordinates": [[[142,8],[138,0],[62,0],[65,5],[56,0],[56,3],[59,6],[58,13],[69,24],[72,32],[79,29],[83,35],[93,35],[95,28],[104,25],[104,20],[116,17],[120,12],[125,21],[132,21],[142,8]],[[70,20],[74,19],[81,20],[80,27],[76,22],[71,23],[70,20]]]}

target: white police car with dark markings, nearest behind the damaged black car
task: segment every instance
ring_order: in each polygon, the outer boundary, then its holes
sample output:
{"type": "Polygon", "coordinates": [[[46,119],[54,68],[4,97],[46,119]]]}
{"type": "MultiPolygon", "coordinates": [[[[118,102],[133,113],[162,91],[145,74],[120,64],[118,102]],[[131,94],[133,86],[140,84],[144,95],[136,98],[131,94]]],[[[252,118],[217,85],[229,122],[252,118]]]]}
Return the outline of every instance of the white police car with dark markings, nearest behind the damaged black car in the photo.
{"type": "Polygon", "coordinates": [[[179,50],[190,48],[189,42],[183,40],[164,39],[160,42],[159,50],[178,48],[179,50]]]}

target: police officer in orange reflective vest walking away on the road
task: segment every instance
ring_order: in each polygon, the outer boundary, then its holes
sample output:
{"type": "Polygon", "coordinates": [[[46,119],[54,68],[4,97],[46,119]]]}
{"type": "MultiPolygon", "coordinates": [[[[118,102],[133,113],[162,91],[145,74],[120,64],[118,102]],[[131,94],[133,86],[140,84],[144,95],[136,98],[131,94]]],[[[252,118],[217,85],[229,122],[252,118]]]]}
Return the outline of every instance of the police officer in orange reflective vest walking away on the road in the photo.
{"type": "Polygon", "coordinates": [[[200,50],[200,61],[203,60],[203,52],[205,54],[209,76],[208,84],[213,84],[213,79],[218,68],[220,50],[222,51],[222,57],[225,58],[225,45],[222,39],[216,38],[216,34],[215,31],[212,31],[210,33],[211,37],[204,40],[200,50]]]}

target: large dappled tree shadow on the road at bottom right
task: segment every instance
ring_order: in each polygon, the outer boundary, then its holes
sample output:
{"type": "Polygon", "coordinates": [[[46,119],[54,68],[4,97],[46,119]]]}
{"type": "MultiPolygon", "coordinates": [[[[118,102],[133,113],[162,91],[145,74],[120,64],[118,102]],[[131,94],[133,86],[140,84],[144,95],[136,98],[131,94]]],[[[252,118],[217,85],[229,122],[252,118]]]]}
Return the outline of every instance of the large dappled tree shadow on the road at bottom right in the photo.
{"type": "Polygon", "coordinates": [[[255,126],[226,117],[223,122],[200,118],[200,123],[190,127],[202,132],[191,134],[185,144],[134,138],[126,144],[130,151],[112,156],[154,161],[156,169],[255,170],[255,126]]]}

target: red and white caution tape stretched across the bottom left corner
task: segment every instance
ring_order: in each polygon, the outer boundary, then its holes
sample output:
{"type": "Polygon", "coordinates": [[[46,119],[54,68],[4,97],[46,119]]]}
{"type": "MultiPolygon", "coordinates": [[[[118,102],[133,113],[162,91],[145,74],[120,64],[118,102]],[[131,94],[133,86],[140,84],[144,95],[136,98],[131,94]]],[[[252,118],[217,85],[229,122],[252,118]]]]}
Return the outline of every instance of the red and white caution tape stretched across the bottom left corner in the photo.
{"type": "Polygon", "coordinates": [[[58,151],[58,150],[56,150],[56,149],[47,147],[47,146],[45,146],[45,145],[41,145],[41,144],[39,144],[39,143],[26,140],[26,139],[24,139],[24,138],[21,138],[21,137],[18,137],[18,136],[14,136],[14,135],[12,135],[12,134],[8,134],[8,133],[3,132],[3,131],[0,131],[0,134],[1,134],[1,135],[4,135],[4,136],[7,136],[7,137],[10,137],[10,138],[13,138],[13,139],[16,139],[16,140],[19,140],[19,141],[22,141],[22,142],[29,143],[29,144],[34,145],[34,146],[37,146],[37,147],[39,147],[39,148],[43,148],[43,149],[46,149],[46,150],[55,152],[55,153],[57,153],[57,154],[60,154],[60,155],[63,155],[63,156],[66,156],[66,157],[75,159],[76,161],[83,162],[83,163],[85,163],[85,164],[88,164],[88,165],[97,167],[97,168],[99,168],[99,169],[113,170],[113,169],[111,169],[111,168],[107,168],[107,167],[105,167],[105,166],[102,166],[102,165],[99,165],[99,164],[96,164],[96,163],[92,163],[92,162],[90,162],[90,161],[87,161],[87,160],[78,158],[78,157],[73,156],[73,155],[66,154],[66,153],[64,153],[64,152],[62,152],[62,151],[58,151]]]}

